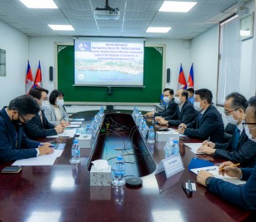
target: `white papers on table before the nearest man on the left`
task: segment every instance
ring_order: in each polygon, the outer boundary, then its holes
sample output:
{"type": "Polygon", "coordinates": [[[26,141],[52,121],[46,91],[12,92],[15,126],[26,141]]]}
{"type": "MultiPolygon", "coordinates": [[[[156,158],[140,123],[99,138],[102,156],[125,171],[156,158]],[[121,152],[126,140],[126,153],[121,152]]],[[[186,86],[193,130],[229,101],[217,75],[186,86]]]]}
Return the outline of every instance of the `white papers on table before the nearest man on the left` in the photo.
{"type": "Polygon", "coordinates": [[[16,160],[13,165],[53,165],[57,157],[61,156],[63,150],[54,150],[52,154],[38,155],[38,157],[16,160]]]}

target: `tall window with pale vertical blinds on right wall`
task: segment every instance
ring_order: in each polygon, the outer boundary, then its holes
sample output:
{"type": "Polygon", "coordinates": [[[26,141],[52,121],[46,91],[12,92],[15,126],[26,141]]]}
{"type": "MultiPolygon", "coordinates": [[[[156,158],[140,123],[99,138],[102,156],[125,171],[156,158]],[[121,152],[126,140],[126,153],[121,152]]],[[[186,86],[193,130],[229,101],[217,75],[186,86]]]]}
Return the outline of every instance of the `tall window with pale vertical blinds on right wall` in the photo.
{"type": "Polygon", "coordinates": [[[225,96],[239,91],[241,41],[239,40],[240,19],[228,18],[220,23],[217,105],[223,106],[225,96]]]}

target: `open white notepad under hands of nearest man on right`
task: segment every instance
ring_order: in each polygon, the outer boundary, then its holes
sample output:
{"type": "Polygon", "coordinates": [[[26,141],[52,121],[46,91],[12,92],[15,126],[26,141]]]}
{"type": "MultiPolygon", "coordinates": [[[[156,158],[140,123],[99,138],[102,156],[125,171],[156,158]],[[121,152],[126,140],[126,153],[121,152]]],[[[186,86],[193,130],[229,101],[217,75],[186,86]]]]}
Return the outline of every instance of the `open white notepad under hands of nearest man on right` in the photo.
{"type": "Polygon", "coordinates": [[[225,180],[225,181],[227,181],[229,183],[232,183],[234,185],[244,185],[246,183],[246,181],[240,180],[240,179],[235,178],[235,177],[230,177],[228,175],[219,175],[218,174],[218,166],[217,165],[208,166],[208,167],[201,167],[201,168],[195,168],[195,169],[191,169],[190,171],[193,172],[193,174],[198,175],[198,172],[200,170],[207,170],[211,174],[213,174],[215,178],[225,180]]]}

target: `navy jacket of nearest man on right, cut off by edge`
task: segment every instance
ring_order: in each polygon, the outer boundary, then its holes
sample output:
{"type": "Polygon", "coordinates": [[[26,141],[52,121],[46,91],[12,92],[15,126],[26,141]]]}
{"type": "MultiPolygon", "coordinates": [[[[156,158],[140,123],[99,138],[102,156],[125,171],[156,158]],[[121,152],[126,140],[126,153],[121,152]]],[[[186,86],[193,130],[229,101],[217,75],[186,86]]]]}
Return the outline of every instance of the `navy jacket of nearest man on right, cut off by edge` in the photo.
{"type": "Polygon", "coordinates": [[[241,170],[242,180],[247,181],[245,185],[233,185],[224,180],[212,178],[209,181],[208,190],[240,208],[256,210],[256,167],[241,170]]]}

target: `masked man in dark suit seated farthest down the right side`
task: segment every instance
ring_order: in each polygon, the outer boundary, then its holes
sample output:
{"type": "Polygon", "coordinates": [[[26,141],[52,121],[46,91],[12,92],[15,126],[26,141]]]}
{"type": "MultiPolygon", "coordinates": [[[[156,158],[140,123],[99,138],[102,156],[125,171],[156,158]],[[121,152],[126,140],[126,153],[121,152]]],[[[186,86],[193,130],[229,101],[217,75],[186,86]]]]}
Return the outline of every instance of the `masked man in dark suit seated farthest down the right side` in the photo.
{"type": "Polygon", "coordinates": [[[177,104],[173,99],[173,94],[174,94],[173,90],[168,88],[164,90],[165,91],[163,91],[163,101],[165,101],[166,103],[164,110],[159,112],[153,112],[153,111],[147,112],[146,115],[148,115],[148,117],[171,116],[176,111],[177,104]]]}

